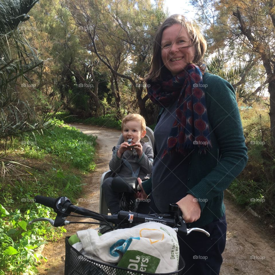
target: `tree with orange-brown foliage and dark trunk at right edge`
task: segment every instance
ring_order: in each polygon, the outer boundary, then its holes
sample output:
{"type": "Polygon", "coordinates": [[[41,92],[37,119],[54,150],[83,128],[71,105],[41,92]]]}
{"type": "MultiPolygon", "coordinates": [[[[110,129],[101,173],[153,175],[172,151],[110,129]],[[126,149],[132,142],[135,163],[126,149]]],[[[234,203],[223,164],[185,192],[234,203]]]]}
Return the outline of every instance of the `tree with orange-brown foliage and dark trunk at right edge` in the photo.
{"type": "Polygon", "coordinates": [[[274,205],[275,1],[193,0],[192,4],[202,11],[199,20],[206,23],[205,32],[211,45],[210,50],[214,52],[226,47],[235,48],[237,54],[234,58],[242,63],[247,62],[247,57],[253,56],[253,62],[259,69],[256,81],[260,82],[254,94],[258,94],[265,87],[268,89],[270,143],[265,143],[262,158],[269,183],[266,202],[274,205]]]}

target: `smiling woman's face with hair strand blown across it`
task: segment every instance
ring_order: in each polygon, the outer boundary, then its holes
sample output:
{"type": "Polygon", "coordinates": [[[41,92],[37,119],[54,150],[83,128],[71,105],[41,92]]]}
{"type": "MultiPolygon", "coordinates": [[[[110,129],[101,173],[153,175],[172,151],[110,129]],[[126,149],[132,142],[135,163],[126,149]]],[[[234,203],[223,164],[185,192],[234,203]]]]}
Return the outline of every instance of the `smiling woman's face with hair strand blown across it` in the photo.
{"type": "Polygon", "coordinates": [[[189,35],[184,27],[174,24],[167,27],[162,33],[161,58],[164,66],[176,75],[194,59],[194,46],[181,48],[191,44],[189,35]]]}

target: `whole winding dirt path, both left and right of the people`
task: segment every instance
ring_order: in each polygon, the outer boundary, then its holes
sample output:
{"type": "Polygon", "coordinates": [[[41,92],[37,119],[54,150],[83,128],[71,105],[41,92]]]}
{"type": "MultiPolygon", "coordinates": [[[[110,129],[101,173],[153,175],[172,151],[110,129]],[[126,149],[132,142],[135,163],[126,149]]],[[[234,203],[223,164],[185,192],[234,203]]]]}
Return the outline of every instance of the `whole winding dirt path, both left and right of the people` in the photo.
{"type": "MultiPolygon", "coordinates": [[[[96,171],[84,178],[83,198],[79,206],[99,212],[99,185],[103,172],[108,170],[112,156],[112,147],[116,145],[120,131],[105,127],[71,124],[88,135],[98,136],[96,171]]],[[[259,275],[275,274],[275,239],[262,227],[258,219],[225,195],[227,238],[223,253],[220,275],[259,275]]],[[[72,220],[72,219],[70,219],[72,220]]],[[[85,218],[82,219],[85,221],[85,218]]],[[[64,236],[70,236],[77,230],[96,228],[91,225],[70,225],[64,236]]],[[[39,267],[40,275],[64,275],[64,238],[48,243],[43,255],[48,263],[39,267]]],[[[199,275],[199,274],[194,274],[199,275]]]]}

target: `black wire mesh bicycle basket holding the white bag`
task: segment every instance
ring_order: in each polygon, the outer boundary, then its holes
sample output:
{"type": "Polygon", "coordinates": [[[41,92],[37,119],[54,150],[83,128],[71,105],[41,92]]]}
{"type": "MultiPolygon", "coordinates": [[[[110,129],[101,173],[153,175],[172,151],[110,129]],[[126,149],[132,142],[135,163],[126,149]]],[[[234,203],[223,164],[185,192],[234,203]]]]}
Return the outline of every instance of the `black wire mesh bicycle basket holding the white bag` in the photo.
{"type": "MultiPolygon", "coordinates": [[[[69,237],[65,239],[65,275],[152,275],[152,273],[129,270],[115,265],[97,262],[79,253],[69,244],[68,239],[69,237]]],[[[184,260],[180,256],[178,271],[158,273],[158,275],[181,275],[184,265],[184,260]]]]}

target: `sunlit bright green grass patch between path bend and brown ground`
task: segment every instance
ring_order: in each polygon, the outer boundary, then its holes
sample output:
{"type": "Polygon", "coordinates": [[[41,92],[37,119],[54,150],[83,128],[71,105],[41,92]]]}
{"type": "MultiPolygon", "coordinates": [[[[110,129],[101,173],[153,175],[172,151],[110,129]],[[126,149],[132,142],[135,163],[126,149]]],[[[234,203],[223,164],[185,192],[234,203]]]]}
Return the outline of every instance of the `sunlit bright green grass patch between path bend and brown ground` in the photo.
{"type": "Polygon", "coordinates": [[[47,154],[52,154],[58,156],[58,161],[83,172],[93,170],[97,137],[85,135],[58,120],[54,123],[44,130],[44,135],[25,135],[24,140],[15,143],[13,148],[23,150],[26,158],[43,159],[47,154]]]}

